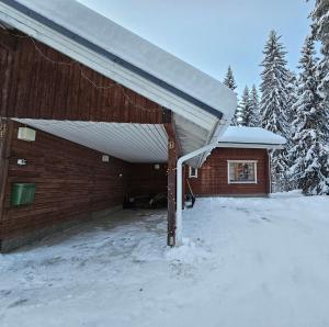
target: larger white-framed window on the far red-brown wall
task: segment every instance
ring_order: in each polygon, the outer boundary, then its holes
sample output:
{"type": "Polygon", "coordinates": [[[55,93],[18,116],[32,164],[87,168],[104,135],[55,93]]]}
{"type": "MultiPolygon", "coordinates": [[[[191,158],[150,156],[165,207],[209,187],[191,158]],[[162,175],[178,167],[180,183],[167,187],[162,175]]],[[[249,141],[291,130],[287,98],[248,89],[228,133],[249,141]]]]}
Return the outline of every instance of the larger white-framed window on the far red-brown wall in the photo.
{"type": "Polygon", "coordinates": [[[228,183],[257,184],[256,160],[228,160],[228,183]]]}

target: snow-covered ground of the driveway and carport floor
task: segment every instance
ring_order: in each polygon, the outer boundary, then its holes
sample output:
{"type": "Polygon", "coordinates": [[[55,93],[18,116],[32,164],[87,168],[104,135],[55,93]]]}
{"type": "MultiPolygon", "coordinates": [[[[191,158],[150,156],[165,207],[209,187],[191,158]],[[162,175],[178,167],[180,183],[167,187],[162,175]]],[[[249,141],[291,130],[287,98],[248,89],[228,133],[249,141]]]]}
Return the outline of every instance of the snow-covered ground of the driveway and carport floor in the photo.
{"type": "Polygon", "coordinates": [[[204,199],[167,249],[125,212],[0,256],[0,326],[329,326],[329,198],[204,199]]]}

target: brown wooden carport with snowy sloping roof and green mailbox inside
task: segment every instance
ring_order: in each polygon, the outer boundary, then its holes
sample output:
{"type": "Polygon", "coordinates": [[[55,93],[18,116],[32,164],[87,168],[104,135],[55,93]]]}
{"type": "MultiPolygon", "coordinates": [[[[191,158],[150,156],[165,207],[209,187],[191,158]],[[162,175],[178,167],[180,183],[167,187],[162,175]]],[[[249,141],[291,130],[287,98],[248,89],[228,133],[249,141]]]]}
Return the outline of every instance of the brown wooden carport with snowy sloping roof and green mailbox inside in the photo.
{"type": "Polygon", "coordinates": [[[1,251],[163,191],[179,241],[178,158],[216,143],[231,90],[73,0],[0,1],[0,76],[1,251]]]}

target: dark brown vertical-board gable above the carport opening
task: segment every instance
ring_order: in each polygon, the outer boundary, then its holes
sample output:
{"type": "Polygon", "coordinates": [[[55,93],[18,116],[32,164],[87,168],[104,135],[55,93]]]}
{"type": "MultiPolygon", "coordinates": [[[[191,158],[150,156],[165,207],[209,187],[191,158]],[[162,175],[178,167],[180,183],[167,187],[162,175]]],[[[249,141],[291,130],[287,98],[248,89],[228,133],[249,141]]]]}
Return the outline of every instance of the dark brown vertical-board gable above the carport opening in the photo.
{"type": "Polygon", "coordinates": [[[0,29],[0,116],[161,124],[152,101],[19,32],[0,29]]]}

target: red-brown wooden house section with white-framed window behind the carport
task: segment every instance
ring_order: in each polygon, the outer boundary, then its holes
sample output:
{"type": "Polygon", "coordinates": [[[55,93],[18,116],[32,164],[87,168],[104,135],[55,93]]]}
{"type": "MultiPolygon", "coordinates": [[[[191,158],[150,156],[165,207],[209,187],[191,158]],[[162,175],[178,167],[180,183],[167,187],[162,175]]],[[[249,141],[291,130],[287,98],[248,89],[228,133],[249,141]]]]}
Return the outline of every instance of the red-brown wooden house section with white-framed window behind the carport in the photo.
{"type": "Polygon", "coordinates": [[[230,126],[200,169],[186,171],[195,196],[266,196],[271,193],[272,150],[285,138],[259,127],[230,126]]]}

